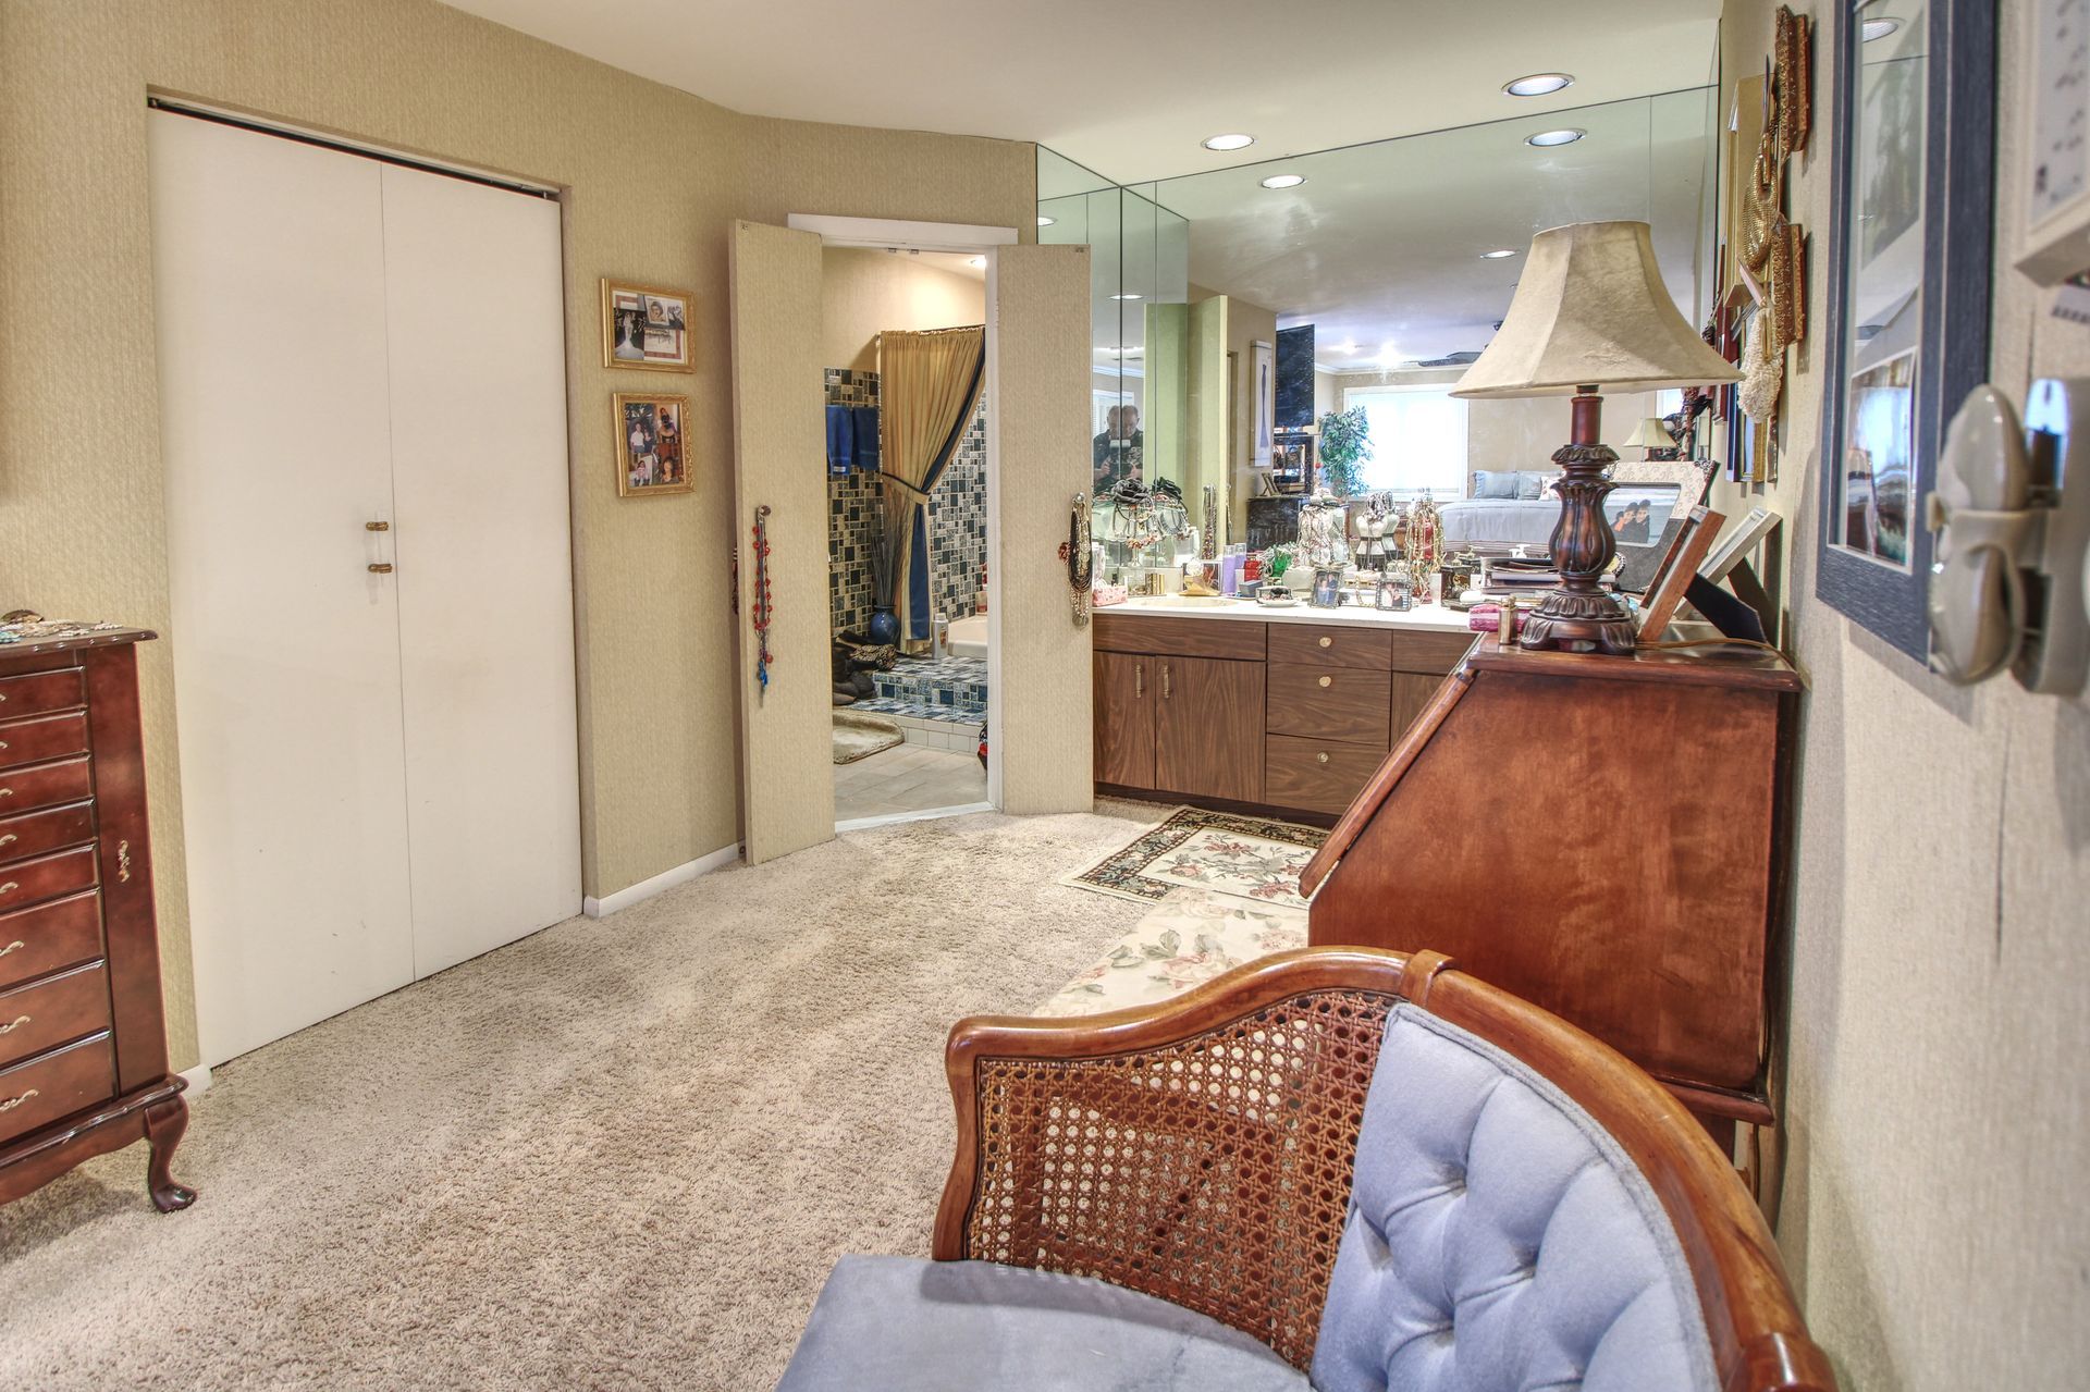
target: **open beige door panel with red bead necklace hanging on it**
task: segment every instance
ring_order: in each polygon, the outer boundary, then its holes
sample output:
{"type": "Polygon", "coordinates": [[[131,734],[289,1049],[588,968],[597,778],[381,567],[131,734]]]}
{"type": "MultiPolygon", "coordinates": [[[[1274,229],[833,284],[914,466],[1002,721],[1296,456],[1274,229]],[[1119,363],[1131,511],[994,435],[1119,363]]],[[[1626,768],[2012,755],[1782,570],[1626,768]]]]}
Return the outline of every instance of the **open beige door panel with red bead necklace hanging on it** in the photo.
{"type": "Polygon", "coordinates": [[[734,224],[740,809],[750,865],[834,840],[819,236],[734,224]],[[761,510],[767,508],[767,514],[761,510]],[[769,554],[757,556],[754,523],[769,554]],[[759,587],[767,579],[767,596],[759,587]],[[767,631],[759,619],[767,617],[767,631]],[[767,652],[767,681],[759,673],[767,652]]]}

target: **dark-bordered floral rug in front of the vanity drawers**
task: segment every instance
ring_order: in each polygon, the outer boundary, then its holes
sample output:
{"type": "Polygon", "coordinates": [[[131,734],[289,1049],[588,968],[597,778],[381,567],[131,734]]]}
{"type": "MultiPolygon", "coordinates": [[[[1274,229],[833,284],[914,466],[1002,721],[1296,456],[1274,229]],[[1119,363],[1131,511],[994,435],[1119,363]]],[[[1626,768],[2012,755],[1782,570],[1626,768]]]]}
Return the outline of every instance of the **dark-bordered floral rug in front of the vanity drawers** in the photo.
{"type": "Polygon", "coordinates": [[[1300,872],[1323,840],[1327,832],[1310,826],[1179,807],[1133,844],[1060,884],[1145,901],[1172,888],[1204,888],[1304,909],[1300,872]]]}

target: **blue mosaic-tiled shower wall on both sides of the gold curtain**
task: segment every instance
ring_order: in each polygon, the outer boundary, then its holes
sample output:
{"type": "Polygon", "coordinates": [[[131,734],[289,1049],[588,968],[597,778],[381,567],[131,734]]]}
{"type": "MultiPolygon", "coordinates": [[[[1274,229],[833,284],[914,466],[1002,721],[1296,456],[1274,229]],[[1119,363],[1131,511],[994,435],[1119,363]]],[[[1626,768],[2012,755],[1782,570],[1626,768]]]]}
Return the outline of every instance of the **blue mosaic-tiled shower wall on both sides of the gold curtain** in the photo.
{"type": "MultiPolygon", "coordinates": [[[[878,374],[828,368],[828,405],[878,405],[878,374]]],[[[872,548],[884,533],[878,479],[828,474],[828,614],[834,631],[872,621],[872,548]]],[[[986,401],[928,504],[930,608],[959,617],[974,608],[986,564],[986,401]]]]}

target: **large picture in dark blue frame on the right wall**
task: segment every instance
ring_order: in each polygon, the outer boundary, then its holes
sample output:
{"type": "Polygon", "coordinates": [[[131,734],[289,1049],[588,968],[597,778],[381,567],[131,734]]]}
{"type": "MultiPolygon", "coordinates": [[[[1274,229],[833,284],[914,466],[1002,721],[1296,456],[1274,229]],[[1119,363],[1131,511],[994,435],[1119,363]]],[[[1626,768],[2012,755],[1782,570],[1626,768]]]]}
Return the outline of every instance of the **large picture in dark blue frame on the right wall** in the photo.
{"type": "Polygon", "coordinates": [[[1996,4],[1835,0],[1831,13],[1814,591],[1921,663],[1923,497],[1946,420],[1988,376],[1996,4]]]}

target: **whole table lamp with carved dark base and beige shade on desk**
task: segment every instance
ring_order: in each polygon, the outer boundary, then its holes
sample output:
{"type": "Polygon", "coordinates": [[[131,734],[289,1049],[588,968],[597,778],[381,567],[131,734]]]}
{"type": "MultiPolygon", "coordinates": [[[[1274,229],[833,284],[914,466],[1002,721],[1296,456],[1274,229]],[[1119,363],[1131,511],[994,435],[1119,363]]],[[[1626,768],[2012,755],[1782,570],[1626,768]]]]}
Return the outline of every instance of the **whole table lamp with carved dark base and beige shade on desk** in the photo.
{"type": "Polygon", "coordinates": [[[1603,391],[1662,391],[1739,380],[1699,339],[1662,284],[1645,222],[1578,222],[1532,238],[1503,328],[1450,395],[1574,397],[1570,443],[1553,454],[1561,520],[1553,527],[1559,589],[1526,619],[1526,648],[1632,652],[1632,619],[1597,583],[1618,539],[1603,516],[1603,391]]]}

